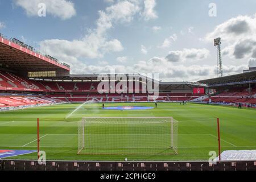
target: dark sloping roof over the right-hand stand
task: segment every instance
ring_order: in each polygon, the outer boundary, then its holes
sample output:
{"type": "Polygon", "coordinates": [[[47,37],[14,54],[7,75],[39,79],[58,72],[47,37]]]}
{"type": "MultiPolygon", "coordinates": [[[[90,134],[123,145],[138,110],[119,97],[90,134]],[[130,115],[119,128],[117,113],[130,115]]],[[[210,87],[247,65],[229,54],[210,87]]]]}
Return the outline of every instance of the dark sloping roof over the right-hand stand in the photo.
{"type": "Polygon", "coordinates": [[[254,83],[256,82],[256,70],[237,75],[212,78],[208,80],[200,80],[199,82],[202,84],[206,84],[209,87],[254,83]]]}

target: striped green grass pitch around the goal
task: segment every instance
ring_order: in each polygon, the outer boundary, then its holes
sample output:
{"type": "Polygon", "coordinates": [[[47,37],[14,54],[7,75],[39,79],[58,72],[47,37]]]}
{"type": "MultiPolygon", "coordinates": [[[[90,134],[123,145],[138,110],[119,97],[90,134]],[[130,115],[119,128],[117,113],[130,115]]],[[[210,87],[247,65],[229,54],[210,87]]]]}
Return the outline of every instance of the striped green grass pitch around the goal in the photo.
{"type": "MultiPolygon", "coordinates": [[[[36,118],[40,118],[40,150],[47,160],[208,160],[221,150],[256,149],[256,110],[229,106],[159,103],[152,110],[102,110],[101,104],[63,104],[0,113],[0,149],[36,150],[36,118]],[[174,117],[179,121],[178,155],[77,155],[77,122],[83,117],[174,117]]],[[[105,104],[105,106],[154,106],[154,103],[105,104]]],[[[36,153],[13,159],[36,159],[36,153]]]]}

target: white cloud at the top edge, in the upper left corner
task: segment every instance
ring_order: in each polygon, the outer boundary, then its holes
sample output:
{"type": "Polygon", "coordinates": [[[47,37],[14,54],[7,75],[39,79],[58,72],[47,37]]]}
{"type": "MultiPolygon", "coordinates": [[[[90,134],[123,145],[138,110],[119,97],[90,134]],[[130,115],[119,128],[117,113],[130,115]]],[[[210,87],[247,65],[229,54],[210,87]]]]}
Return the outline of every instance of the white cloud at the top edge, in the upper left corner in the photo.
{"type": "Polygon", "coordinates": [[[67,0],[14,0],[16,6],[22,7],[28,16],[38,16],[39,3],[46,4],[47,15],[53,15],[60,19],[70,19],[76,15],[74,3],[67,0]]]}

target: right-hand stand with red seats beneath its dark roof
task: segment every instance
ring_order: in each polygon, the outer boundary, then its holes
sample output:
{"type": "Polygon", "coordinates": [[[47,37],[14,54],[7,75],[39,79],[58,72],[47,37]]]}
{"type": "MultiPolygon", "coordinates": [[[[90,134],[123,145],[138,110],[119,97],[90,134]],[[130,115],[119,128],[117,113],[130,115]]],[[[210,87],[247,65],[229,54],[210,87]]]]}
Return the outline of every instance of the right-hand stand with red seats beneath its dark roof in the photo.
{"type": "Polygon", "coordinates": [[[203,102],[216,104],[243,104],[255,107],[256,104],[256,71],[244,72],[238,75],[213,78],[199,81],[213,90],[209,98],[203,102]]]}

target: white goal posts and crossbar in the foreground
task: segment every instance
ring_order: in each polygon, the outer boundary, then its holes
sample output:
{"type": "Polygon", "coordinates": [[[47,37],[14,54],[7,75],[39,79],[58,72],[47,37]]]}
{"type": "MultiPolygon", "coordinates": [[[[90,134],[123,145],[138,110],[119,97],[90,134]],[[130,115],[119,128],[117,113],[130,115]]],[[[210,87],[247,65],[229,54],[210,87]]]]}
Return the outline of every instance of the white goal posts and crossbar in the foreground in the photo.
{"type": "MultiPolygon", "coordinates": [[[[177,155],[178,152],[177,152],[177,139],[176,139],[176,146],[174,146],[174,122],[177,122],[178,121],[174,121],[174,118],[173,117],[84,117],[82,118],[82,121],[79,122],[79,124],[81,124],[82,126],[82,148],[79,148],[78,146],[78,152],[77,154],[80,155],[80,152],[82,150],[84,150],[86,147],[85,147],[85,119],[152,119],[152,118],[158,118],[158,119],[170,119],[170,123],[171,123],[171,134],[170,134],[170,137],[171,137],[171,145],[170,145],[170,148],[175,152],[175,154],[168,154],[168,155],[177,155]]],[[[78,140],[80,139],[79,138],[79,131],[78,131],[78,140]]],[[[177,138],[177,131],[176,131],[176,138],[177,138]]],[[[79,142],[78,142],[79,143],[79,142]]],[[[122,148],[122,147],[121,147],[122,148]]],[[[90,154],[92,155],[92,154],[90,154]]],[[[94,154],[94,155],[100,155],[100,154],[94,154]]],[[[110,154],[109,154],[110,155],[110,154]]],[[[111,154],[111,155],[119,155],[119,154],[111,154]]],[[[136,155],[136,154],[129,154],[129,155],[136,155]]],[[[140,154],[138,154],[140,155],[140,154]]],[[[162,154],[160,154],[162,155],[162,154]]]]}

